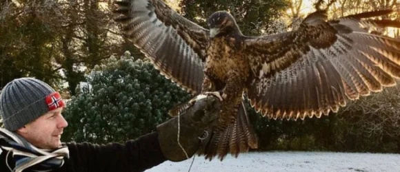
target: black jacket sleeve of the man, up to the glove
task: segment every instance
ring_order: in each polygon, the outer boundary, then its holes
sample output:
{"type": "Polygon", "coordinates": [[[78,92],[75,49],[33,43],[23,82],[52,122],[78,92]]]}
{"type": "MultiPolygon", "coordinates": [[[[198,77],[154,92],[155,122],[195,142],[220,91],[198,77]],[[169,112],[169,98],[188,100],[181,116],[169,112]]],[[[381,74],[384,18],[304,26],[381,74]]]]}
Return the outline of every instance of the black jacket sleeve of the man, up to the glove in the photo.
{"type": "Polygon", "coordinates": [[[148,133],[125,144],[69,143],[68,166],[73,171],[145,171],[167,159],[159,147],[158,133],[148,133]]]}

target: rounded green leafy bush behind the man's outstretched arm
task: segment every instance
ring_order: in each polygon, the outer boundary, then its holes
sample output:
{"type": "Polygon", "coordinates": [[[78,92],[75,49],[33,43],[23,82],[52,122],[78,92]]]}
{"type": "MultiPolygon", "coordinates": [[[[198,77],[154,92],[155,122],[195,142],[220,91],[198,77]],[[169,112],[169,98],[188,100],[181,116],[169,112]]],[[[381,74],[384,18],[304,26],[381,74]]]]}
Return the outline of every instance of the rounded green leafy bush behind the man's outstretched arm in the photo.
{"type": "Polygon", "coordinates": [[[130,53],[87,76],[90,87],[80,86],[64,116],[69,122],[66,141],[123,142],[154,131],[167,120],[168,110],[190,98],[183,89],[161,76],[148,61],[134,61],[130,53]]]}

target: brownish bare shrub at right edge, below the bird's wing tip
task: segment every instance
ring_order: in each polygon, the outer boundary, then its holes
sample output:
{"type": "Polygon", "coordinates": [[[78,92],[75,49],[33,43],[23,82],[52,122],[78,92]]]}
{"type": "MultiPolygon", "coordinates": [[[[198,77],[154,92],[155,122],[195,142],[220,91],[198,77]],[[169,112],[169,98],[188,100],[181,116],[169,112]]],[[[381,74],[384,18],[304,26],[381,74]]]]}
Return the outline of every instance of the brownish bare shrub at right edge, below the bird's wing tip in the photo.
{"type": "Polygon", "coordinates": [[[337,136],[346,149],[400,152],[399,91],[399,86],[384,89],[350,102],[340,112],[337,136]]]}

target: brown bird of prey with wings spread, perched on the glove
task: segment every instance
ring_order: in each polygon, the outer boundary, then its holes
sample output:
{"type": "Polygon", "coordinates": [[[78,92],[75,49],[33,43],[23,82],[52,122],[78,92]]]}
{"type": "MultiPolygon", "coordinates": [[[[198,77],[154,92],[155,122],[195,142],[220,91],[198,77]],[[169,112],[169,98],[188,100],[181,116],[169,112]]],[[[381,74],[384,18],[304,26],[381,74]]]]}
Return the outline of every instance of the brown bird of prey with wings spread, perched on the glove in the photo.
{"type": "Polygon", "coordinates": [[[377,19],[392,10],[340,19],[318,10],[297,30],[245,36],[226,11],[214,12],[203,28],[161,0],[116,4],[114,20],[161,74],[193,96],[221,99],[218,125],[199,150],[210,160],[258,147],[244,96],[268,118],[319,118],[349,100],[394,86],[400,77],[399,39],[373,33],[400,28],[399,21],[377,19]]]}

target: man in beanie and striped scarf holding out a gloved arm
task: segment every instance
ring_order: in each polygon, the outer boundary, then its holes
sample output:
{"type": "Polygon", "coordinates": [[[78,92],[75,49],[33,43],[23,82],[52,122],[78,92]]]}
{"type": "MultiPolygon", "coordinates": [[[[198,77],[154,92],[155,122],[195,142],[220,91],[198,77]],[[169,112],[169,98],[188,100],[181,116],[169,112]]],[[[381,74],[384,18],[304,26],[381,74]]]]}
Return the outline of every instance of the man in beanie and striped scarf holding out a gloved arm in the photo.
{"type": "Polygon", "coordinates": [[[6,127],[0,129],[1,172],[145,171],[166,160],[186,160],[199,148],[206,127],[217,121],[219,101],[201,98],[153,133],[106,145],[61,144],[68,126],[61,115],[64,107],[58,92],[34,78],[12,80],[1,90],[0,114],[6,127]]]}

